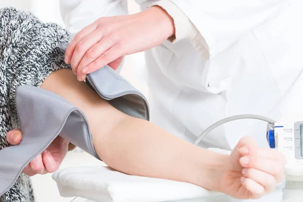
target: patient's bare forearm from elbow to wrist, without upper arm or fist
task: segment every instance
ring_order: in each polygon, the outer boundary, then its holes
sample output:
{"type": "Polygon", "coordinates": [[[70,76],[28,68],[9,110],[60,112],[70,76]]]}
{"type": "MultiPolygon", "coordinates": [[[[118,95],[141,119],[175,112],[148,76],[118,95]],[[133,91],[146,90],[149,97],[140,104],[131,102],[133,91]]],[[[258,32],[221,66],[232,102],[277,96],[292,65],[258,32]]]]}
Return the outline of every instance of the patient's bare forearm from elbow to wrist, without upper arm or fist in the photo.
{"type": "Polygon", "coordinates": [[[194,146],[137,118],[121,121],[97,153],[112,168],[131,175],[184,181],[216,190],[227,156],[194,146]],[[106,143],[105,143],[106,142],[106,143]]]}

